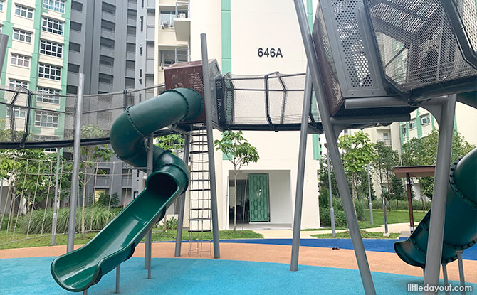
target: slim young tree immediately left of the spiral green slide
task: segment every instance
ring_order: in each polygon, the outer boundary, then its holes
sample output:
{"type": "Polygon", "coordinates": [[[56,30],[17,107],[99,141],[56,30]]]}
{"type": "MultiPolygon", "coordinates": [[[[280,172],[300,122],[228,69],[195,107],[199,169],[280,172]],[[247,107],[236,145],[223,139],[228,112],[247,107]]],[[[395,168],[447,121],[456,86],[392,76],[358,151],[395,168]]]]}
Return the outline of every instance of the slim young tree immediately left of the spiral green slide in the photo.
{"type": "MultiPolygon", "coordinates": [[[[92,139],[105,137],[106,132],[99,127],[93,125],[85,125],[81,127],[81,138],[92,139]]],[[[80,148],[80,156],[83,161],[80,162],[80,186],[83,188],[83,202],[81,208],[81,237],[85,237],[85,198],[86,186],[91,178],[95,175],[94,166],[96,161],[108,161],[111,159],[113,152],[106,144],[97,146],[82,146],[80,148]],[[83,173],[83,175],[81,175],[83,173]]],[[[75,200],[72,200],[75,202],[75,200]]]]}

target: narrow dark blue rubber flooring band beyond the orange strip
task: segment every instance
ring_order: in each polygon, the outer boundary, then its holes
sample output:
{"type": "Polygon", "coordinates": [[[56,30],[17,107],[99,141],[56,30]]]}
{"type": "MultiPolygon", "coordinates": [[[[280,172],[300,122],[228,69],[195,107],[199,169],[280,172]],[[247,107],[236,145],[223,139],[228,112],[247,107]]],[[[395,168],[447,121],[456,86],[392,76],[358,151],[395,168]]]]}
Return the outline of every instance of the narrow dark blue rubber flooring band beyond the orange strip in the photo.
{"type": "MultiPolygon", "coordinates": [[[[399,240],[406,240],[402,237],[399,240]]],[[[398,240],[389,239],[363,239],[366,251],[376,252],[394,252],[394,242],[398,240]]],[[[184,241],[187,242],[187,241],[184,241]]],[[[220,242],[230,243],[246,243],[246,244],[266,244],[266,245],[288,245],[291,246],[291,239],[237,239],[237,240],[220,240],[220,242]]],[[[300,239],[300,246],[306,247],[323,247],[340,249],[353,249],[351,239],[300,239]]],[[[473,246],[464,250],[463,259],[477,260],[477,246],[473,246]]]]}

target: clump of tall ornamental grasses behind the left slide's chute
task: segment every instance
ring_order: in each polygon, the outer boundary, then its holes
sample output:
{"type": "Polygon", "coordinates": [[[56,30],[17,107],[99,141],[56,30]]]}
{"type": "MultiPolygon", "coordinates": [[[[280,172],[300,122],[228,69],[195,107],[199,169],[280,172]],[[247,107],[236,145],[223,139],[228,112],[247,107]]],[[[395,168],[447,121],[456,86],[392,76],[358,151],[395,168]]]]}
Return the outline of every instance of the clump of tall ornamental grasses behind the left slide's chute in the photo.
{"type": "MultiPolygon", "coordinates": [[[[122,208],[110,208],[108,214],[108,207],[104,206],[95,206],[85,208],[85,224],[88,230],[102,230],[103,227],[108,225],[115,216],[120,213],[122,208]]],[[[56,232],[63,233],[68,232],[68,220],[70,219],[70,209],[69,208],[60,208],[58,210],[58,218],[56,220],[56,232]]],[[[53,209],[48,210],[33,210],[33,213],[30,215],[25,215],[21,222],[21,229],[24,234],[28,230],[28,223],[30,223],[30,234],[39,234],[41,233],[41,228],[43,226],[43,233],[51,232],[51,226],[53,224],[53,209]],[[43,222],[43,215],[45,221],[43,222]],[[31,222],[30,222],[31,218],[31,222]]],[[[81,212],[80,210],[76,211],[76,231],[81,228],[81,212]]]]}

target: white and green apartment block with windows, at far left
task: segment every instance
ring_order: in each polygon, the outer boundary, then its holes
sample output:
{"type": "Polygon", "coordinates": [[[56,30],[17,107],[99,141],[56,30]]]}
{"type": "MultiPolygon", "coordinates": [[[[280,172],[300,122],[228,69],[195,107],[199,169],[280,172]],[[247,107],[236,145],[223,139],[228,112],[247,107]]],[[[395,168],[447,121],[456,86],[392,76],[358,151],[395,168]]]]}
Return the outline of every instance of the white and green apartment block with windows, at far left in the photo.
{"type": "MultiPolygon", "coordinates": [[[[70,5],[65,0],[22,0],[0,2],[1,33],[9,35],[6,62],[1,69],[1,85],[26,87],[39,94],[31,101],[29,128],[41,139],[63,139],[68,52],[70,40],[70,5]],[[42,96],[44,93],[48,96],[42,96]],[[41,109],[41,110],[40,110],[41,109]]],[[[5,100],[6,97],[1,97],[5,100]]],[[[27,96],[19,95],[16,104],[26,106],[27,96]]],[[[26,124],[26,109],[13,109],[15,129],[26,124]]],[[[1,104],[2,116],[9,117],[1,104]]],[[[1,126],[10,129],[10,120],[1,126]]]]}

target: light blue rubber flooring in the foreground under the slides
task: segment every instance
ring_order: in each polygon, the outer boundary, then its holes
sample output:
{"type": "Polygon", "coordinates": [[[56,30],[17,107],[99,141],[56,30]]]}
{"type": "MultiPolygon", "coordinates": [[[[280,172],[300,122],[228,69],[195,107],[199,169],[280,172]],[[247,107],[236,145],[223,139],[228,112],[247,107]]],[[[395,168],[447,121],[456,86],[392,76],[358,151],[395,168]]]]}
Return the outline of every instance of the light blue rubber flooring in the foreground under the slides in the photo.
{"type": "MultiPolygon", "coordinates": [[[[53,257],[0,260],[0,294],[72,294],[61,289],[50,274],[53,257]]],[[[354,269],[241,262],[214,259],[152,259],[152,279],[146,279],[144,259],[121,264],[120,294],[364,294],[360,274],[354,269]]],[[[407,284],[421,277],[373,272],[377,294],[413,294],[407,284]]],[[[456,281],[451,284],[457,286],[456,281]]],[[[477,284],[473,286],[475,294],[477,284]]],[[[88,294],[114,294],[115,271],[105,274],[88,294]]],[[[419,294],[419,293],[416,293],[419,294]]],[[[456,293],[457,294],[457,293],[456,293]]],[[[460,292],[458,293],[460,294],[460,292]]]]}

